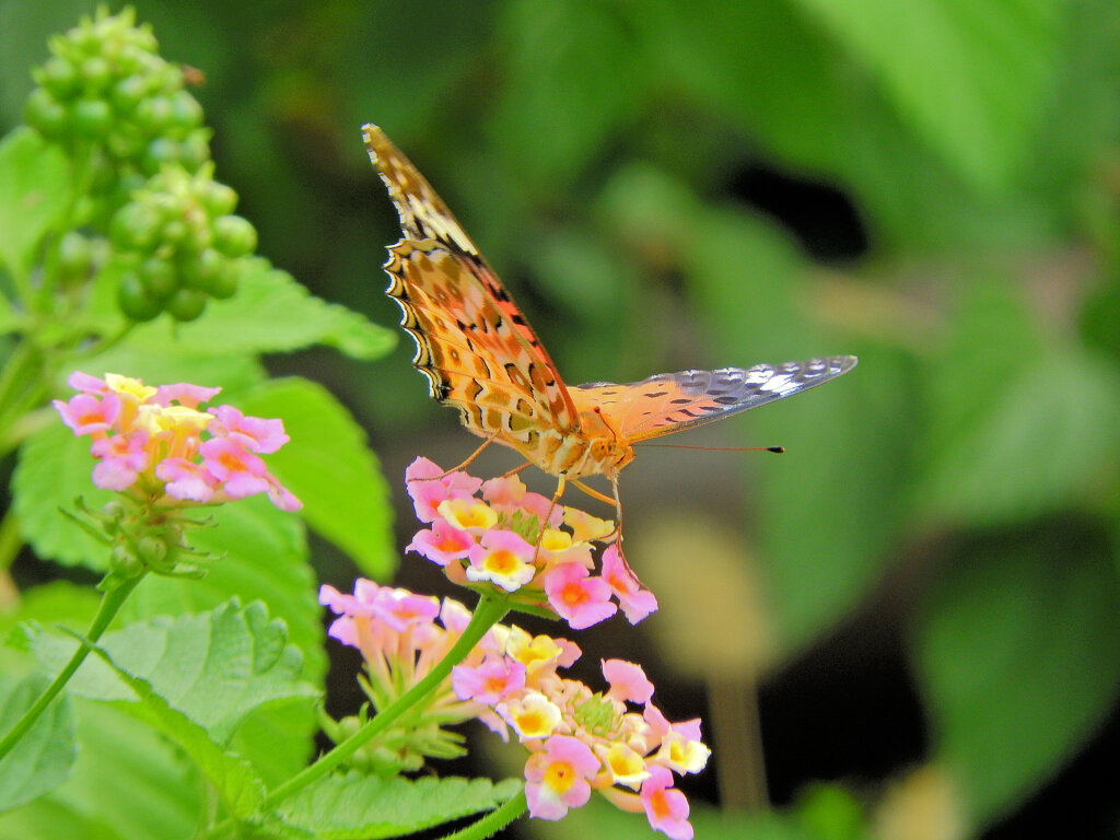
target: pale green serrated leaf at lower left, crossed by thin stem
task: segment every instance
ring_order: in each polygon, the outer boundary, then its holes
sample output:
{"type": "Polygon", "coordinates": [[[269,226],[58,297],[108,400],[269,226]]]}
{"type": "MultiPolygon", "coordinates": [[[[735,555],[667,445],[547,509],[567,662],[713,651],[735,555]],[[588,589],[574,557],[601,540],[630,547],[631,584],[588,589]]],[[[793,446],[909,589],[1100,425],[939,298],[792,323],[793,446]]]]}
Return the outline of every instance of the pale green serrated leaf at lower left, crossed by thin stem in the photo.
{"type": "MultiPolygon", "coordinates": [[[[76,646],[69,637],[35,640],[36,655],[50,671],[60,670],[76,646]]],[[[155,692],[222,744],[252,710],[316,693],[301,679],[302,656],[283,624],[269,618],[261,604],[233,601],[208,613],[132,624],[106,634],[99,648],[112,661],[87,659],[67,683],[71,693],[134,701],[133,692],[144,700],[155,692]],[[131,691],[118,675],[129,678],[131,691]]]]}

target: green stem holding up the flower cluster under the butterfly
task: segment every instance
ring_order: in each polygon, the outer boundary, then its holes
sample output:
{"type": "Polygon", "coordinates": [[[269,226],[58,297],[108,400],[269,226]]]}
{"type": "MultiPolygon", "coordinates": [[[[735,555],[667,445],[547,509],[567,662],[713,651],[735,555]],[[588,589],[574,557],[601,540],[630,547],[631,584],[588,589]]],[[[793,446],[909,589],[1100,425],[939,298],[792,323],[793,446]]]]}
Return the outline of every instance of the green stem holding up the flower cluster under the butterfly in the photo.
{"type": "Polygon", "coordinates": [[[362,745],[383,732],[404,712],[428,697],[447,679],[448,674],[451,673],[451,669],[466,659],[467,654],[486,635],[486,631],[502,620],[502,617],[508,609],[508,604],[504,598],[482,596],[478,600],[478,606],[475,607],[474,615],[470,617],[470,623],[463,631],[463,635],[459,636],[451,650],[447,652],[447,655],[420,682],[382,709],[368,724],[329,753],[321,756],[315,764],[304,768],[300,773],[297,773],[271,791],[265,797],[265,805],[274,805],[277,802],[287,799],[297,791],[307,787],[307,785],[327,775],[349,756],[354,755],[362,745]]]}

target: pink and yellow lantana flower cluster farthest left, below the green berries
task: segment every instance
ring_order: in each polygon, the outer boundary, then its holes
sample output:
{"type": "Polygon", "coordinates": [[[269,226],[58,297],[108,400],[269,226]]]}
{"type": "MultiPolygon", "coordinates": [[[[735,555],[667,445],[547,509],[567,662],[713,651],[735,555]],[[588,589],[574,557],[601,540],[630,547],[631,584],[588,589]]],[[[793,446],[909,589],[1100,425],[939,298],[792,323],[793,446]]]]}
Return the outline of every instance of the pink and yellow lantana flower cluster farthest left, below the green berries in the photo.
{"type": "Polygon", "coordinates": [[[153,388],[128,376],[81,372],[67,383],[78,393],[67,402],[55,400],[54,407],[76,436],[93,438],[97,487],[160,507],[258,493],[283,511],[302,507],[260,457],[288,442],[281,420],[246,417],[232,405],[203,411],[218,388],[153,388]]]}

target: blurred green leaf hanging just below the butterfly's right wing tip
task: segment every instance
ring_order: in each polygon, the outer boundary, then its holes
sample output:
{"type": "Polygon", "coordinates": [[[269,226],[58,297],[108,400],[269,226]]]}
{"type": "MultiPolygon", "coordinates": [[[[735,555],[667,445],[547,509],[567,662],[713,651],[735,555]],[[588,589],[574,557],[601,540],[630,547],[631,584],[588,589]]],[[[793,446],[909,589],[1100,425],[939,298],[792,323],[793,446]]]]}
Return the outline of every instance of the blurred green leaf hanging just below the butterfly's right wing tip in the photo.
{"type": "Polygon", "coordinates": [[[787,648],[850,613],[890,562],[908,510],[908,374],[899,355],[861,351],[851,373],[741,421],[754,445],[786,447],[752,465],[750,515],[787,648]]]}

